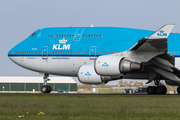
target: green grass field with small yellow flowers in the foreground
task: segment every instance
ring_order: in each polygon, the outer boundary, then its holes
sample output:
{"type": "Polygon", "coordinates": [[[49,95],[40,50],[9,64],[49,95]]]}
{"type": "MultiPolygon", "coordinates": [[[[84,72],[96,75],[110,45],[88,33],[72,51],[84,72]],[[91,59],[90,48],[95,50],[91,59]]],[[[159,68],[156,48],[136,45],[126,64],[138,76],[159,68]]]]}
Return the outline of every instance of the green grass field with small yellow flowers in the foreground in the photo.
{"type": "Polygon", "coordinates": [[[180,119],[180,95],[0,94],[0,120],[9,119],[175,120],[180,119]]]}

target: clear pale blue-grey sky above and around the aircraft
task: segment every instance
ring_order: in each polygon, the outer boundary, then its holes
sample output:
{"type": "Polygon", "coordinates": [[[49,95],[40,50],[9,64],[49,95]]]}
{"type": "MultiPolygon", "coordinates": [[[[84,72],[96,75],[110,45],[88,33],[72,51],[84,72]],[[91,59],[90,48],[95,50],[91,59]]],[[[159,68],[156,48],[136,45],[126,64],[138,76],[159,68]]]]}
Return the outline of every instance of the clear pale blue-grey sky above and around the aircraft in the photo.
{"type": "Polygon", "coordinates": [[[172,32],[179,33],[179,5],[179,0],[0,0],[0,76],[38,76],[7,56],[37,29],[93,24],[156,31],[173,23],[172,32]]]}

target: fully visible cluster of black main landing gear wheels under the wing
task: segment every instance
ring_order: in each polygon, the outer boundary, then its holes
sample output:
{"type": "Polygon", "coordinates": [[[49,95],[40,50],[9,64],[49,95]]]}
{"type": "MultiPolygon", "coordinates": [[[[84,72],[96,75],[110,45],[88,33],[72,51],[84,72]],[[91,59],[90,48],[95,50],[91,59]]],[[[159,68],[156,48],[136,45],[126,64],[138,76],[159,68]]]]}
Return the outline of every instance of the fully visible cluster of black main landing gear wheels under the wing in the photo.
{"type": "MultiPolygon", "coordinates": [[[[154,80],[156,86],[149,86],[147,88],[148,94],[166,94],[167,88],[159,82],[160,80],[154,80]]],[[[180,91],[180,88],[179,88],[180,91]]]]}

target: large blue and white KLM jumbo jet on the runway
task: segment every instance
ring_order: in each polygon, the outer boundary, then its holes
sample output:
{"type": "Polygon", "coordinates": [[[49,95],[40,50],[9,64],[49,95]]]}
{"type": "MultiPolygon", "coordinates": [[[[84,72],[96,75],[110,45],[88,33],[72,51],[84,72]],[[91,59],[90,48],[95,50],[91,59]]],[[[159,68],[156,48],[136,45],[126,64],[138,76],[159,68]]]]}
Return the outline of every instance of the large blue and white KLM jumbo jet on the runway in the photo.
{"type": "MultiPolygon", "coordinates": [[[[117,79],[147,79],[148,94],[166,94],[161,84],[180,86],[180,34],[173,24],[159,30],[121,27],[54,27],[36,30],[13,47],[8,57],[39,72],[43,93],[50,93],[49,74],[77,76],[85,84],[117,79]]],[[[177,88],[180,94],[180,87],[177,88]]]]}

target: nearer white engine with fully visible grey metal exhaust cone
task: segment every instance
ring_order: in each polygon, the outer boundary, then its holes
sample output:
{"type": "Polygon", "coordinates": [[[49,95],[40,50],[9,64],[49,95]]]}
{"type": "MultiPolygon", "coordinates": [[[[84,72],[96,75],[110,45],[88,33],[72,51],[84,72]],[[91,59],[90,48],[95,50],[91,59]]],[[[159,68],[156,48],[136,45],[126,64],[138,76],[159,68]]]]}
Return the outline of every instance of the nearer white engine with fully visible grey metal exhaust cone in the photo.
{"type": "Polygon", "coordinates": [[[94,66],[96,73],[102,76],[117,76],[122,73],[141,71],[143,69],[143,65],[140,63],[114,55],[98,57],[94,66]]]}

